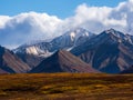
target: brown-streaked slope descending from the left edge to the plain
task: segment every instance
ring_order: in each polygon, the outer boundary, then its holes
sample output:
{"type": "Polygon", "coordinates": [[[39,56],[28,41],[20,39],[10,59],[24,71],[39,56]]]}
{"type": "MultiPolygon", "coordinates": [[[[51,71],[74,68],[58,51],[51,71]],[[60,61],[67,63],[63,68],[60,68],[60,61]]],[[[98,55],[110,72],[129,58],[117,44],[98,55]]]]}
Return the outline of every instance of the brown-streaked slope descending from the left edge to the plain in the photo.
{"type": "Polygon", "coordinates": [[[22,73],[29,71],[30,67],[13,52],[0,47],[0,70],[8,73],[22,73]]]}

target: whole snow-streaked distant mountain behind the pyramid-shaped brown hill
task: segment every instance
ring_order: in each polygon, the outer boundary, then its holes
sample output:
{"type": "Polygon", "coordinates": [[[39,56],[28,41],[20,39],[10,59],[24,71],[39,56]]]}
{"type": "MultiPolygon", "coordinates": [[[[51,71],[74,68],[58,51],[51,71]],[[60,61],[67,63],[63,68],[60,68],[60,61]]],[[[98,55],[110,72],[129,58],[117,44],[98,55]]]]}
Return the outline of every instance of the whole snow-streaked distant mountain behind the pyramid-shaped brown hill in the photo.
{"type": "Polygon", "coordinates": [[[63,36],[54,38],[49,42],[41,41],[20,46],[14,49],[13,52],[22,58],[22,60],[30,67],[34,68],[42,61],[42,59],[50,57],[55,51],[60,49],[69,51],[94,36],[94,33],[91,33],[85,29],[78,28],[63,33],[63,36]]]}

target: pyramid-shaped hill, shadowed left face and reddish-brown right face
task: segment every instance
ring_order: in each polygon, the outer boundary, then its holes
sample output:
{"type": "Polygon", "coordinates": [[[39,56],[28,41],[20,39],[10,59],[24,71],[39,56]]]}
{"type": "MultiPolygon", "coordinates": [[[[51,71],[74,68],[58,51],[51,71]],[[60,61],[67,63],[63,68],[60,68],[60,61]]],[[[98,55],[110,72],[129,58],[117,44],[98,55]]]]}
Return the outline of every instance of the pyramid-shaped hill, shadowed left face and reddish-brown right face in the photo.
{"type": "Polygon", "coordinates": [[[99,72],[68,51],[59,50],[30,72],[99,72]]]}

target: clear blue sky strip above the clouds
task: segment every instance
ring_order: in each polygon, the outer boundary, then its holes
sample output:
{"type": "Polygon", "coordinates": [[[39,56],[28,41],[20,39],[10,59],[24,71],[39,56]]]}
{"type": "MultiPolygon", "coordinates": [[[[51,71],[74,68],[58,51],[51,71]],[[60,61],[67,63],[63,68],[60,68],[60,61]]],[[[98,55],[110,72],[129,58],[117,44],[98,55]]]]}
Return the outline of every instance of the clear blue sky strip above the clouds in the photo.
{"type": "Polygon", "coordinates": [[[116,7],[126,0],[0,0],[0,14],[16,16],[21,12],[47,12],[66,18],[74,14],[75,8],[81,3],[96,7],[116,7]]]}

